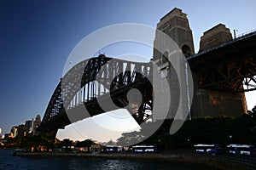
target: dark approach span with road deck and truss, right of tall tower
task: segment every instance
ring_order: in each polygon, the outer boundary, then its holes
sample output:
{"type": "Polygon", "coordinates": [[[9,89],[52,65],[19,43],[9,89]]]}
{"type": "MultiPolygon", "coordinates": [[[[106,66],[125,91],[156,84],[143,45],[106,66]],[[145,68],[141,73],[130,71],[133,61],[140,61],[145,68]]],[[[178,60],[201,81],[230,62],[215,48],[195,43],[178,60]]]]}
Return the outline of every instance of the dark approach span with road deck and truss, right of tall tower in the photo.
{"type": "Polygon", "coordinates": [[[188,58],[199,74],[199,88],[233,93],[253,91],[255,81],[256,31],[209,48],[188,58]],[[244,88],[242,85],[246,86],[244,88]]]}

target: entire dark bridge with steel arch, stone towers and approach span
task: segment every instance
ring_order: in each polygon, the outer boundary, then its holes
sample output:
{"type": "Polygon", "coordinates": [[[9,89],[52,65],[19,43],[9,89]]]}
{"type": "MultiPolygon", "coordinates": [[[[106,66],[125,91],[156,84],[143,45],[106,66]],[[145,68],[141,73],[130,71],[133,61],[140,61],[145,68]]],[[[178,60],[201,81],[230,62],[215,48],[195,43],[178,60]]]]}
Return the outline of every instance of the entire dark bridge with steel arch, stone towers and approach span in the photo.
{"type": "MultiPolygon", "coordinates": [[[[187,15],[179,8],[166,14],[157,25],[177,43],[189,63],[194,97],[189,118],[196,116],[241,116],[247,112],[244,92],[256,89],[256,31],[232,38],[223,24],[214,26],[201,37],[201,48],[194,54],[192,31],[187,15]]],[[[166,71],[172,105],[179,101],[177,74],[170,63],[165,38],[156,33],[154,56],[148,63],[113,59],[100,54],[74,65],[55,88],[44,113],[41,131],[55,136],[59,128],[90,116],[125,108],[138,124],[154,116],[153,65],[166,71]],[[168,57],[166,57],[168,56],[168,57]],[[131,95],[137,89],[141,97],[131,95]]],[[[86,57],[86,56],[84,56],[86,57]]],[[[160,76],[160,74],[159,74],[160,76]]],[[[183,82],[181,82],[183,83],[183,82]]],[[[166,101],[163,101],[166,102],[166,101]]],[[[170,106],[173,118],[176,106],[170,106]]],[[[165,118],[165,117],[164,117],[165,118]]]]}

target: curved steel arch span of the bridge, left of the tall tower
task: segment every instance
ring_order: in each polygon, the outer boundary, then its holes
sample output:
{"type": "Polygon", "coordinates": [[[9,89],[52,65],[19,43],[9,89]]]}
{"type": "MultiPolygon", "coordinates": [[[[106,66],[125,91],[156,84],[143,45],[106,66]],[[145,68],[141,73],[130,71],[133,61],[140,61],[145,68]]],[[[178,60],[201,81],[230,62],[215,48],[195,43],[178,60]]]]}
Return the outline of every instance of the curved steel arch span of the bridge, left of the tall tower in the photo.
{"type": "Polygon", "coordinates": [[[150,62],[108,58],[103,54],[74,65],[55,88],[41,129],[55,134],[57,129],[73,122],[125,106],[138,124],[145,122],[150,118],[153,107],[153,88],[149,80],[151,65],[150,62]],[[141,105],[137,102],[129,105],[132,101],[127,99],[127,93],[131,88],[137,88],[143,95],[141,105]],[[109,95],[118,107],[103,110],[98,101],[109,103],[109,95]]]}

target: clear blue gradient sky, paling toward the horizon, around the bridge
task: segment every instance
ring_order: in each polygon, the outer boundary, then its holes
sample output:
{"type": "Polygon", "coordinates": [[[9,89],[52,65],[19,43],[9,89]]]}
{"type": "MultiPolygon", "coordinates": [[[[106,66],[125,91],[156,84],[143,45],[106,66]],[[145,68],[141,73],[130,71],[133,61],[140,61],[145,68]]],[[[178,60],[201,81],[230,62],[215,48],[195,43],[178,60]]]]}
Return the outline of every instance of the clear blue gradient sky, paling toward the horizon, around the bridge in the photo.
{"type": "MultiPolygon", "coordinates": [[[[2,134],[9,133],[12,126],[25,123],[38,114],[44,116],[49,99],[60,81],[66,59],[82,38],[104,26],[119,23],[156,27],[160,18],[175,7],[188,14],[195,52],[198,51],[202,33],[218,23],[225,24],[232,32],[238,30],[237,35],[256,29],[256,2],[253,0],[1,1],[2,134]]],[[[152,54],[152,51],[145,53],[152,54]]],[[[256,103],[253,101],[254,94],[250,93],[250,99],[247,99],[248,109],[252,109],[256,103]]],[[[96,119],[102,122],[101,118],[96,119]]],[[[96,124],[93,121],[84,123],[88,127],[90,123],[96,124]]],[[[122,130],[122,123],[116,126],[122,130]]],[[[119,133],[108,130],[104,136],[100,133],[100,127],[81,134],[78,127],[79,124],[69,126],[61,130],[58,137],[107,141],[119,136],[119,133]]]]}

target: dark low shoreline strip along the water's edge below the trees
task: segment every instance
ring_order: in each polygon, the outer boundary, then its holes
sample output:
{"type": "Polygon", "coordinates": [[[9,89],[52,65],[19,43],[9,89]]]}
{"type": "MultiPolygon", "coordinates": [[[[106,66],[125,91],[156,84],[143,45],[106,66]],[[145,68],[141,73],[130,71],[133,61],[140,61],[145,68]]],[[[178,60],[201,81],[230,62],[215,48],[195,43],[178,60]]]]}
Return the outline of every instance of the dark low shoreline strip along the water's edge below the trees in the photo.
{"type": "Polygon", "coordinates": [[[48,157],[48,156],[69,156],[69,157],[95,157],[95,158],[110,158],[110,159],[129,159],[129,160],[157,160],[157,161],[183,161],[195,164],[201,164],[218,169],[249,169],[245,165],[232,163],[218,159],[216,156],[183,154],[183,153],[82,153],[82,152],[35,152],[35,153],[15,153],[15,156],[28,157],[48,157]]]}

